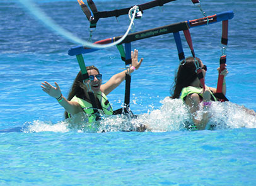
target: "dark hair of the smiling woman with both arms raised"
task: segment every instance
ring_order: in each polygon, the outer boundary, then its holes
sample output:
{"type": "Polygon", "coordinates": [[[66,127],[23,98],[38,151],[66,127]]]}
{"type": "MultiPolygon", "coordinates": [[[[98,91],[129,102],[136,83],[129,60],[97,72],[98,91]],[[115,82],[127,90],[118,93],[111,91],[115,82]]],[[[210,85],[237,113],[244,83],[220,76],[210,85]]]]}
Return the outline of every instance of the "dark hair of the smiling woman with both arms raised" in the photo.
{"type": "MultiPolygon", "coordinates": [[[[100,71],[95,66],[91,65],[86,67],[86,70],[96,70],[98,74],[100,74],[100,71]]],[[[78,75],[76,75],[76,79],[74,79],[73,85],[71,86],[71,89],[69,90],[69,96],[67,96],[67,100],[71,101],[71,99],[76,96],[81,99],[85,98],[84,90],[80,87],[80,85],[83,84],[83,77],[81,71],[78,72],[78,75]]],[[[64,116],[67,119],[67,111],[64,112],[64,116]]]]}

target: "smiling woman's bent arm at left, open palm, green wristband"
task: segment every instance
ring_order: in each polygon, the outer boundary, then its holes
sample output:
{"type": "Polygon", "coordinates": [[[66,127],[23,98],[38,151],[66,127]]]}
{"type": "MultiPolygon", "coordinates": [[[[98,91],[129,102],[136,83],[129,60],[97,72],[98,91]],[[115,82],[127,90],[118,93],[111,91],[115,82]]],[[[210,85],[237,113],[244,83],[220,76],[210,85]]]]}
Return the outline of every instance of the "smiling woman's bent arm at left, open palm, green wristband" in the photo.
{"type": "Polygon", "coordinates": [[[49,94],[49,96],[54,97],[57,99],[59,104],[64,107],[64,109],[69,112],[69,114],[77,114],[78,112],[82,112],[83,109],[81,106],[78,104],[78,102],[74,101],[68,101],[64,96],[61,94],[61,89],[59,88],[59,85],[54,82],[55,86],[52,86],[48,82],[42,83],[41,87],[46,92],[49,94]]]}

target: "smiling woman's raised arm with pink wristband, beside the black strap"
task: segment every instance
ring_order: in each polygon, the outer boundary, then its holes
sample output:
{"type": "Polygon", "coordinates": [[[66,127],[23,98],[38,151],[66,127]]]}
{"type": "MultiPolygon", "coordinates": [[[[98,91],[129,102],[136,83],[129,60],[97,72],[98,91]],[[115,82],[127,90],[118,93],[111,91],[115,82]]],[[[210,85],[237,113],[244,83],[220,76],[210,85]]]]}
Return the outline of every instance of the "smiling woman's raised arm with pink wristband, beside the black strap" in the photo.
{"type": "MultiPolygon", "coordinates": [[[[141,63],[143,62],[143,58],[141,60],[137,60],[138,57],[138,51],[135,49],[134,52],[131,53],[132,55],[132,66],[136,68],[136,70],[141,66],[141,63]]],[[[105,94],[108,95],[110,92],[112,92],[113,89],[118,87],[121,82],[125,80],[127,70],[124,70],[123,72],[120,72],[118,74],[113,75],[110,80],[107,81],[107,83],[100,86],[100,90],[105,94]]],[[[130,68],[130,73],[134,72],[134,69],[130,68]]]]}

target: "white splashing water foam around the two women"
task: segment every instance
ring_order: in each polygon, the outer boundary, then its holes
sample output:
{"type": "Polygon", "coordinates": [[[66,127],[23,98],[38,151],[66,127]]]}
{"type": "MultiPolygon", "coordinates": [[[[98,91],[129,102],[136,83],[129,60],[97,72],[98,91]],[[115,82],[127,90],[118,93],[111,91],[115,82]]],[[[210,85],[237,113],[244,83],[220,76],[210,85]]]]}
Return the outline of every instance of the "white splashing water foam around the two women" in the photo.
{"type": "MultiPolygon", "coordinates": [[[[160,109],[153,109],[135,117],[129,114],[103,116],[102,120],[88,124],[88,115],[79,113],[56,124],[38,120],[26,123],[22,131],[25,133],[44,131],[102,133],[144,131],[144,127],[146,127],[146,131],[166,132],[185,130],[185,124],[192,122],[189,109],[182,100],[166,97],[160,102],[162,104],[160,109]]],[[[208,111],[211,118],[207,125],[214,126],[214,129],[256,128],[255,112],[232,102],[212,102],[208,111]]],[[[197,115],[200,116],[204,111],[198,112],[197,115]]]]}

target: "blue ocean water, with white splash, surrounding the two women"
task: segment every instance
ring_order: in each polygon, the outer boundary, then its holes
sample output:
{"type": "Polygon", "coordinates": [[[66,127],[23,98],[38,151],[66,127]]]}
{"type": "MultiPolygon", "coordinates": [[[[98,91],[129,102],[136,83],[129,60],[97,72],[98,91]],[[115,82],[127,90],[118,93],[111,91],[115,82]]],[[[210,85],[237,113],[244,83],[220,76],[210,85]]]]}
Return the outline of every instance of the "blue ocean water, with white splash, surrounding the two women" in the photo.
{"type": "MultiPolygon", "coordinates": [[[[148,1],[96,1],[99,11],[127,8],[148,1]]],[[[35,2],[47,16],[88,40],[89,24],[77,1],[35,2]]],[[[207,15],[233,10],[229,21],[226,77],[230,102],[211,106],[214,130],[186,131],[187,109],[170,100],[178,55],[173,35],[132,42],[144,61],[132,74],[131,110],[136,119],[105,118],[97,133],[69,128],[64,109],[42,91],[58,82],[67,96],[79,71],[67,55],[76,43],[57,35],[19,1],[0,3],[0,185],[255,185],[256,9],[255,1],[201,1],[207,15]],[[151,131],[123,132],[147,124],[151,131]],[[21,129],[21,131],[20,131],[21,129]]],[[[201,18],[191,1],[173,1],[144,11],[132,31],[201,18]]],[[[124,35],[127,15],[103,18],[92,41],[124,35]]],[[[207,65],[206,84],[216,87],[221,55],[221,23],[191,28],[195,55],[207,65]]],[[[183,34],[185,55],[190,50],[183,34]]],[[[103,82],[124,69],[117,48],[84,55],[103,82]]],[[[122,83],[108,95],[114,109],[124,102],[122,83]]]]}

